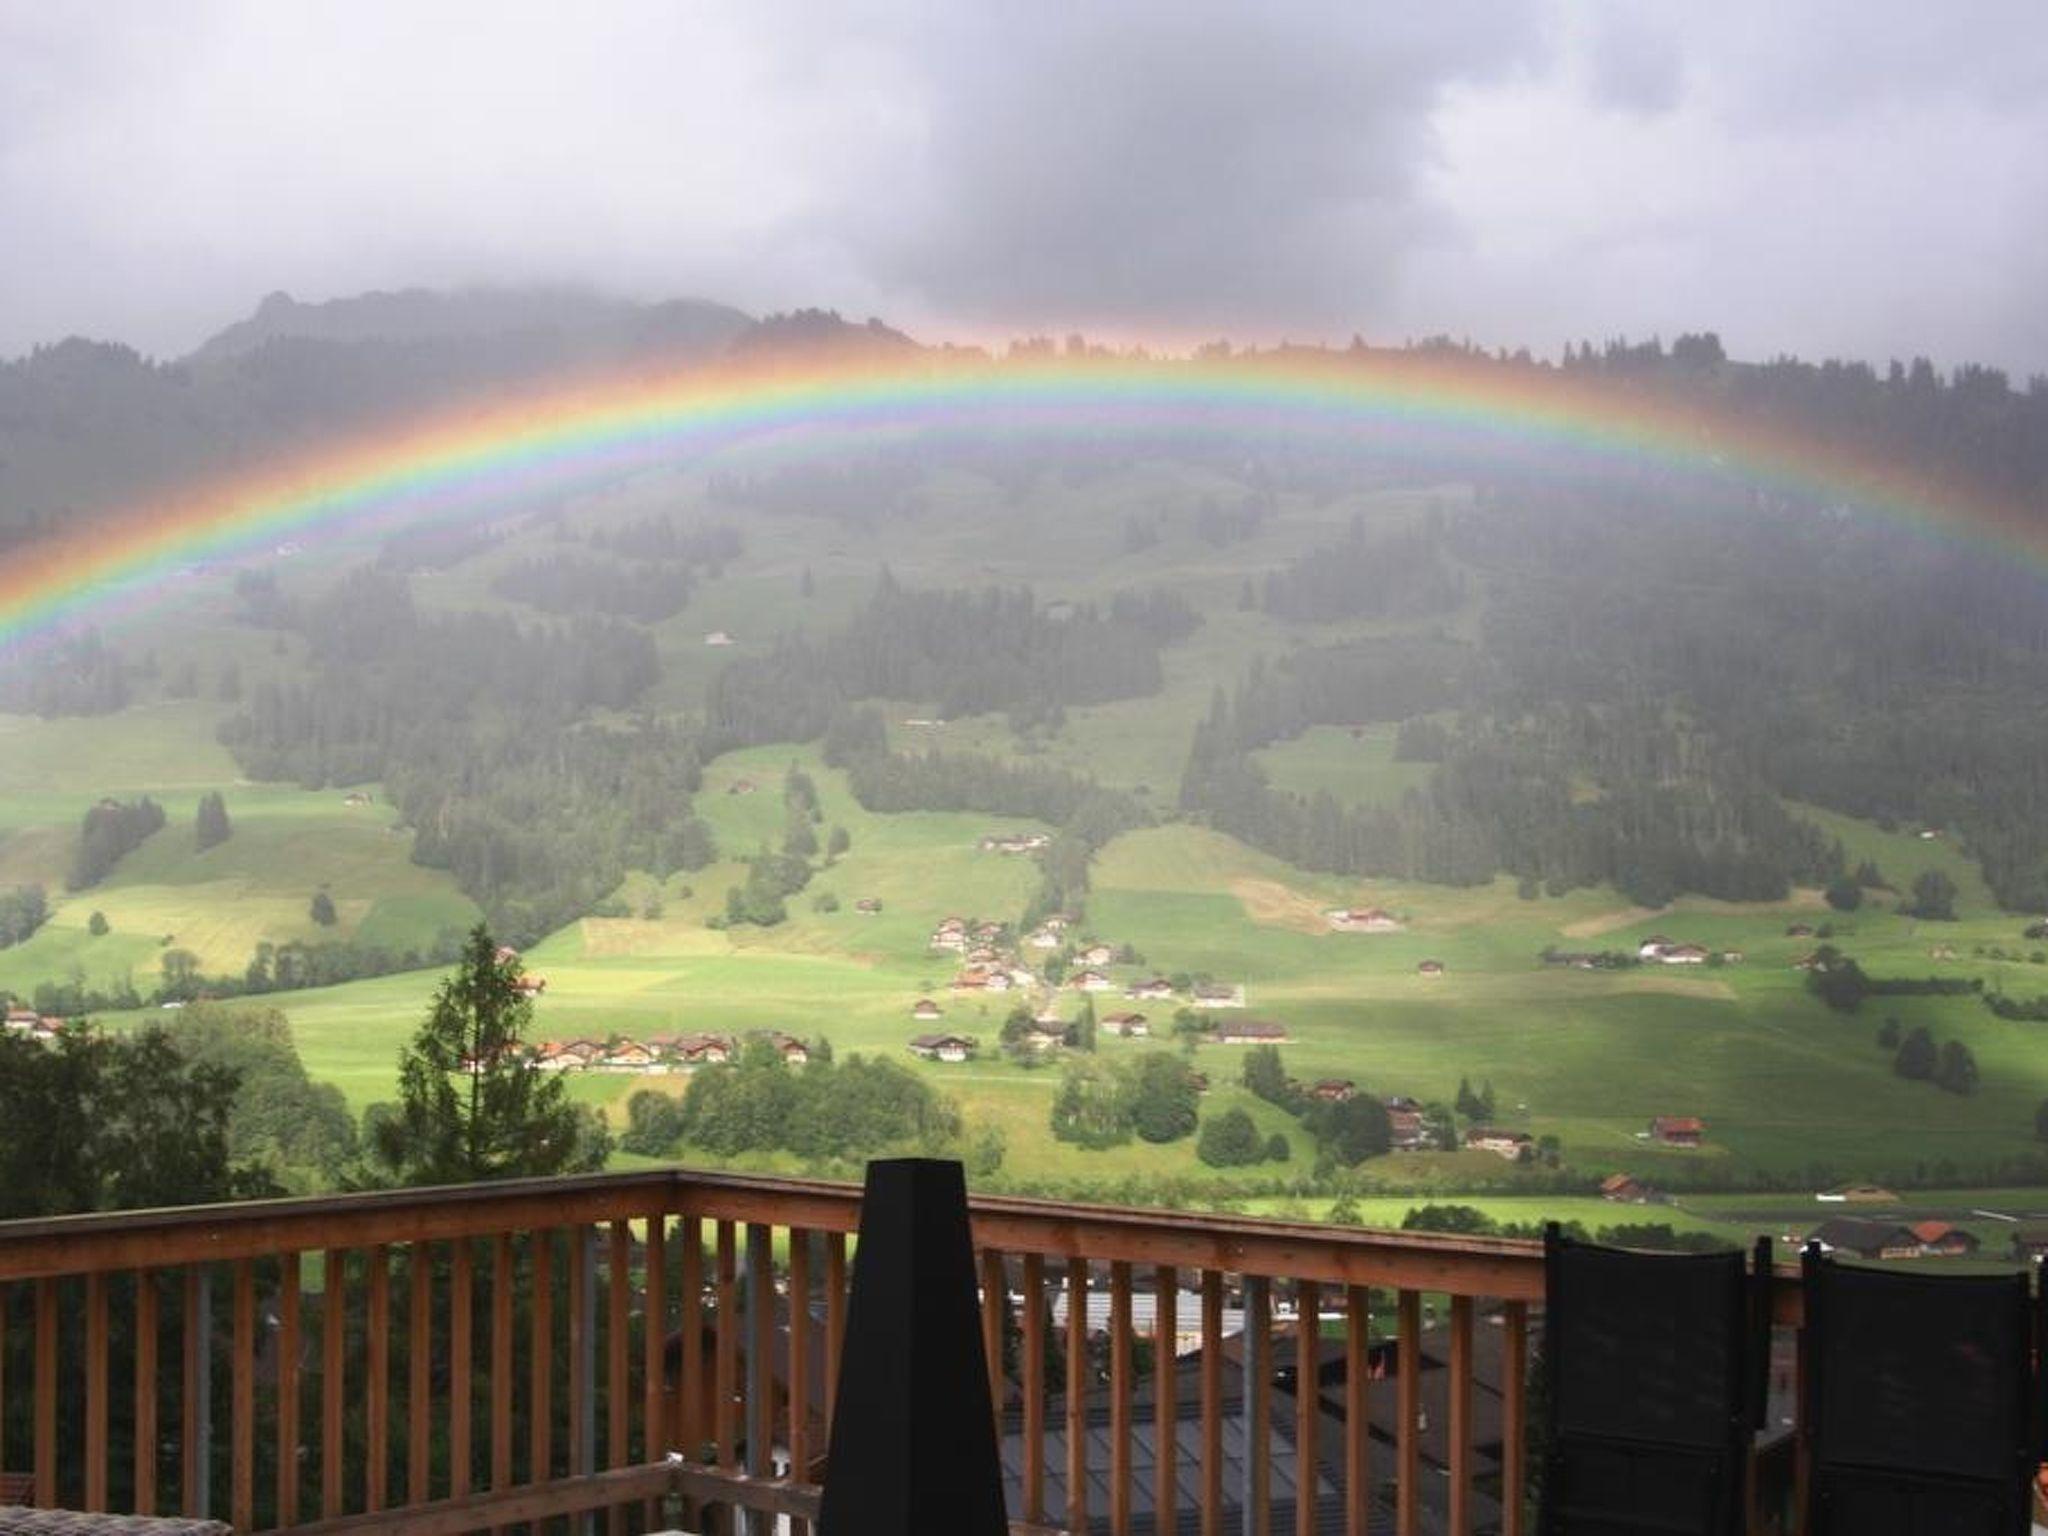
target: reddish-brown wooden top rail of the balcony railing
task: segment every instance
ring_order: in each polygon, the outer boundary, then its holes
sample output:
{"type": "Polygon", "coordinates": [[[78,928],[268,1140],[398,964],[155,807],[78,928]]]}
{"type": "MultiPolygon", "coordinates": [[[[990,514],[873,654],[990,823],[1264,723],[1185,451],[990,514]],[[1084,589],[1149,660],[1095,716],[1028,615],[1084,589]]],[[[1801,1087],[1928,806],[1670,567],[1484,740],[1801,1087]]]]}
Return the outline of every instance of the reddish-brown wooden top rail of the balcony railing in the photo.
{"type": "MultiPolygon", "coordinates": [[[[971,1208],[977,1241],[1012,1253],[1509,1300],[1542,1296],[1542,1245],[1528,1239],[1077,1206],[1022,1196],[977,1196],[971,1208]]],[[[0,1280],[446,1241],[657,1212],[854,1231],[860,1186],[668,1167],[10,1221],[0,1223],[0,1280]]]]}

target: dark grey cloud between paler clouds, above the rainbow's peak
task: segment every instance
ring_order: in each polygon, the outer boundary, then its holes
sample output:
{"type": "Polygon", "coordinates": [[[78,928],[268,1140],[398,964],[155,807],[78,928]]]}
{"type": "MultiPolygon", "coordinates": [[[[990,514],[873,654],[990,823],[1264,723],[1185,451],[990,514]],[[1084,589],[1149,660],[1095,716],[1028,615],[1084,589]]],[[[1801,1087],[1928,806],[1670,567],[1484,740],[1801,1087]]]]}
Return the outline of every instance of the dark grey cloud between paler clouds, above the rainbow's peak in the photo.
{"type": "Polygon", "coordinates": [[[1438,92],[1540,49],[1513,4],[1024,14],[936,29],[909,217],[850,211],[942,313],[1341,332],[1432,223],[1438,92]]]}

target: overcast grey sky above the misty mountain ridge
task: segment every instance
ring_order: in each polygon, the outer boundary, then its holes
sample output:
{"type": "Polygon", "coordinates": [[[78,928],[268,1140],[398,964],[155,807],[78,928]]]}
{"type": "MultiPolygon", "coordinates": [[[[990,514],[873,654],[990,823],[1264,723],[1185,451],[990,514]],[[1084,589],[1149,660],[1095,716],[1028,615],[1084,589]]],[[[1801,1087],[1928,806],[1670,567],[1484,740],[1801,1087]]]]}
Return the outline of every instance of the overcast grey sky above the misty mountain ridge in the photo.
{"type": "Polygon", "coordinates": [[[0,356],[578,283],[2048,373],[2040,0],[0,0],[0,356]]]}

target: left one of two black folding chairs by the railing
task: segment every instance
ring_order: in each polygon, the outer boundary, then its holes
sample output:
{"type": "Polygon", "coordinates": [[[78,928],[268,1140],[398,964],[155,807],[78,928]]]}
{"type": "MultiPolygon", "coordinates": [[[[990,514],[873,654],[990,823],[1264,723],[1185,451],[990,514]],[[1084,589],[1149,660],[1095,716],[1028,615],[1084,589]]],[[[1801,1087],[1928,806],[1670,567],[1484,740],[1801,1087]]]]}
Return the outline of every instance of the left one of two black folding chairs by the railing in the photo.
{"type": "Polygon", "coordinates": [[[1769,1239],[1634,1253],[1544,1233],[1544,1536],[1737,1536],[1763,1419],[1769,1239]]]}

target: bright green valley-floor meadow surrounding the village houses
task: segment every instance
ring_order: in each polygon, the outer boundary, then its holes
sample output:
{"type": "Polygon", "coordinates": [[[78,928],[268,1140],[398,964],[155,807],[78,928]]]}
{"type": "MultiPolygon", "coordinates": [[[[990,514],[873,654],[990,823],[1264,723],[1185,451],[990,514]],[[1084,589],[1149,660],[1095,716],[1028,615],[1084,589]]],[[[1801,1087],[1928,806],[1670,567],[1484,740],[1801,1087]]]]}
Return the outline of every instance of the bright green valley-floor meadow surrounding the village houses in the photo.
{"type": "MultiPolygon", "coordinates": [[[[807,750],[764,748],[721,758],[707,772],[700,805],[727,846],[745,848],[780,827],[780,774],[791,762],[817,778],[827,825],[846,825],[852,836],[852,852],[793,901],[791,922],[774,930],[705,928],[737,866],[670,881],[659,893],[659,918],[586,920],[528,952],[530,969],[549,983],[535,1026],[541,1036],[756,1028],[825,1034],[842,1055],[885,1053],[930,1073],[961,1100],[969,1120],[999,1124],[1012,1180],[1104,1184],[1204,1174],[1186,1145],[1077,1153],[1055,1143],[1047,1112],[1057,1067],[1020,1067],[987,1053],[954,1067],[913,1063],[903,1044],[930,1028],[909,1016],[918,997],[936,997],[946,1028],[985,1042],[993,1042],[1012,1006],[1008,997],[954,1001],[944,991],[950,956],[930,954],[926,936],[948,913],[1014,918],[1030,889],[1030,866],[983,854],[975,840],[1018,823],[877,817],[807,750]],[[752,793],[735,795],[741,782],[754,784],[752,793]],[[813,897],[827,891],[840,899],[838,911],[813,907],[813,897]],[[860,897],[881,899],[883,911],[854,913],[860,897]]],[[[641,887],[641,899],[647,895],[651,883],[641,887]]],[[[1628,1169],[1681,1192],[1806,1171],[1817,1182],[1927,1182],[1942,1176],[1944,1163],[1976,1167],[2025,1153],[2032,1108],[2048,1096],[2048,1053],[2034,1030],[1995,1020],[1974,997],[1874,999],[1853,1018],[1827,1012],[1792,969],[1812,940],[1784,932],[1825,915],[1810,897],[1782,907],[1688,901],[1647,915],[1604,893],[1522,901],[1505,881],[1470,891],[1356,887],[1305,879],[1210,831],[1157,827],[1104,850],[1087,930],[1137,946],[1143,965],[1120,969],[1124,979],[1206,971],[1241,981],[1253,1016],[1286,1024],[1286,1063],[1303,1079],[1352,1077],[1380,1094],[1450,1100],[1468,1075],[1475,1085],[1493,1085],[1501,1122],[1559,1137],[1567,1161],[1587,1174],[1628,1169]],[[1339,901],[1384,905],[1409,926],[1382,936],[1333,934],[1319,913],[1339,901]],[[1683,973],[1585,973],[1536,958],[1546,944],[1595,942],[1571,938],[1589,928],[1602,946],[1632,946],[1665,932],[1739,948],[1743,961],[1683,973]],[[1419,975],[1423,958],[1440,961],[1446,973],[1419,975]],[[1872,1038],[1886,1014],[1909,1026],[1925,1022],[1937,1038],[1966,1040],[1985,1087],[1956,1098],[1896,1077],[1890,1053],[1872,1038]],[[1708,1145],[1673,1151],[1647,1143],[1638,1133],[1657,1114],[1702,1116],[1708,1145]]],[[[1995,973],[2011,989],[2048,987],[2048,969],[2025,963],[1931,963],[1933,928],[1866,911],[1839,922],[1837,936],[1876,975],[1952,965],[1995,973]]],[[[2009,938],[2015,920],[1966,913],[1937,928],[1942,942],[1968,956],[1972,942],[2009,938]]],[[[430,989],[432,977],[385,977],[276,1001],[291,1014],[313,1071],[362,1106],[391,1092],[397,1049],[430,989]]],[[[1061,993],[1061,1006],[1071,1012],[1077,997],[1061,993]]],[[[1171,1012],[1141,1008],[1161,1024],[1171,1012]]],[[[1110,1057],[1145,1049],[1165,1047],[1102,1042],[1110,1057]]],[[[1204,1112],[1245,1104],[1262,1128],[1292,1141],[1290,1163],[1262,1165],[1235,1182],[1255,1186],[1309,1171],[1313,1149],[1298,1128],[1237,1087],[1241,1051],[1208,1044],[1196,1063],[1214,1081],[1204,1112]]],[[[616,1112],[631,1092],[649,1085],[680,1092],[682,1079],[588,1073],[578,1077],[578,1096],[616,1112]]],[[[1481,1153],[1393,1159],[1368,1171],[1446,1192],[1503,1182],[1511,1188],[1516,1178],[1481,1153]]]]}

